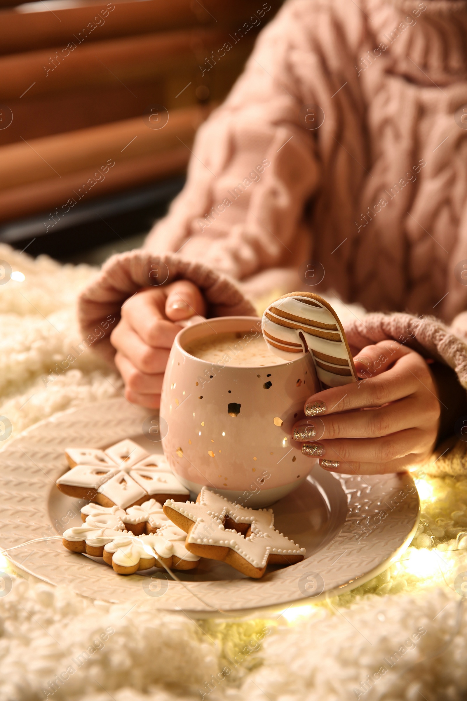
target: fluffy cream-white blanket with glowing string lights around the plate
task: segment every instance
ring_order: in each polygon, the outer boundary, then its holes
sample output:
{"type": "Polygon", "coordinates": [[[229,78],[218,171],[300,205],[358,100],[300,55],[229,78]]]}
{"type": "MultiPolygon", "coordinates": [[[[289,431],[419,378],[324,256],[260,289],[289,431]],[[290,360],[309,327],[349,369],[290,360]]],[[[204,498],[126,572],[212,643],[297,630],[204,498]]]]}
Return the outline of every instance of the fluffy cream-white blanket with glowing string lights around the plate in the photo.
{"type": "MultiPolygon", "coordinates": [[[[80,340],[74,300],[95,271],[6,246],[2,259],[25,275],[0,284],[0,415],[12,435],[121,391],[90,353],[47,381],[80,340]]],[[[12,573],[8,591],[0,574],[0,701],[466,698],[467,584],[463,592],[459,573],[467,583],[467,550],[459,531],[467,527],[467,480],[419,485],[417,547],[401,562],[350,594],[272,618],[190,620],[146,603],[128,610],[12,573]]],[[[8,573],[6,559],[0,569],[8,573]]]]}

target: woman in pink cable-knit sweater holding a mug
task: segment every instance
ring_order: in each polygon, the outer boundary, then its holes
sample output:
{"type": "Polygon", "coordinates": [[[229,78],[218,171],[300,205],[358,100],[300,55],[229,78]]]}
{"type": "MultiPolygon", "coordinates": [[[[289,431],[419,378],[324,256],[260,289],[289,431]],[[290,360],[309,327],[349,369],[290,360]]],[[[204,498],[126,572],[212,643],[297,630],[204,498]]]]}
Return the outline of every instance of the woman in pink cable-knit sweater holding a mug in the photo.
{"type": "Polygon", "coordinates": [[[365,382],[309,397],[295,437],[330,470],[396,472],[467,414],[467,10],[361,2],[284,5],[169,215],[104,266],[81,320],[116,317],[100,347],[157,407],[180,320],[300,289],[358,302],[377,312],[346,327],[365,382]]]}

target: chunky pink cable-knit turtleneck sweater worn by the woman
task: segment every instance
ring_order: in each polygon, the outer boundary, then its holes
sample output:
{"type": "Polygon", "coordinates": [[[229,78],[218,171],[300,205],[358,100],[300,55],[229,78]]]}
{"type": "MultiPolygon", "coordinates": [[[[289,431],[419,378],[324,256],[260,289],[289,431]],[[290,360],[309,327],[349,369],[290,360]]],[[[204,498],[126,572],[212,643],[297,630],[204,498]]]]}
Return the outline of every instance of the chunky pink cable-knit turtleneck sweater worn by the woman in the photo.
{"type": "Polygon", "coordinates": [[[199,284],[211,314],[335,290],[379,312],[347,326],[354,348],[405,337],[467,388],[464,0],[288,0],[193,151],[146,252],[83,292],[85,332],[158,264],[199,284]]]}

